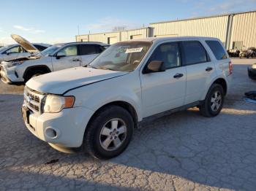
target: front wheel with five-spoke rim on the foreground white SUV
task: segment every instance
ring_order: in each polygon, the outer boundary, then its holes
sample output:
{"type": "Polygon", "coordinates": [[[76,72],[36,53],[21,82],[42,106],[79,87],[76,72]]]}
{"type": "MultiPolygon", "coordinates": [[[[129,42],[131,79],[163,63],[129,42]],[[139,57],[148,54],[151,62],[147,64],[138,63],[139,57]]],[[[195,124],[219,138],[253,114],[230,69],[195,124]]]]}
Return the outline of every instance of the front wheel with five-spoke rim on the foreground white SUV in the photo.
{"type": "Polygon", "coordinates": [[[106,106],[89,122],[83,147],[98,159],[116,157],[127,148],[132,139],[133,128],[132,116],[126,109],[121,106],[106,106]]]}

